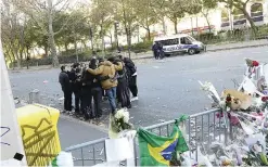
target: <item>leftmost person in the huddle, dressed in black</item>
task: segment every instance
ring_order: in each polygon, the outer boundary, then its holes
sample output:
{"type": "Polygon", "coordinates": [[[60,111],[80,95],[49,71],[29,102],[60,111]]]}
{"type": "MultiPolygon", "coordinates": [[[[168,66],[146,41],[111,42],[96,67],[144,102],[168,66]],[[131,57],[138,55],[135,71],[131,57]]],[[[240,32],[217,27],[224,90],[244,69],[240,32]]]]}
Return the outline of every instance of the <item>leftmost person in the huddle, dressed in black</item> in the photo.
{"type": "Polygon", "coordinates": [[[59,75],[59,82],[62,86],[62,91],[64,93],[64,112],[72,111],[72,90],[69,78],[67,72],[65,70],[65,66],[61,66],[61,73],[59,75]]]}

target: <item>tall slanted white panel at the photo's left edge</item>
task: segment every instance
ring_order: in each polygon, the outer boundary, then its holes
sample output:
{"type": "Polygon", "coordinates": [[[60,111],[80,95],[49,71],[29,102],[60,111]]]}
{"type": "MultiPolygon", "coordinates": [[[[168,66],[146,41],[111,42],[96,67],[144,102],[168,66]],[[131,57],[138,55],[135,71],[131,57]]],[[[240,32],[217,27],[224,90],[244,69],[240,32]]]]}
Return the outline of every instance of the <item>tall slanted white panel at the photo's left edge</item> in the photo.
{"type": "Polygon", "coordinates": [[[10,159],[21,160],[21,165],[27,165],[22,137],[18,130],[15,105],[10,87],[9,74],[5,66],[1,40],[0,40],[0,61],[1,61],[1,131],[0,131],[1,160],[5,160],[5,165],[7,163],[14,163],[14,160],[10,160],[10,159]]]}

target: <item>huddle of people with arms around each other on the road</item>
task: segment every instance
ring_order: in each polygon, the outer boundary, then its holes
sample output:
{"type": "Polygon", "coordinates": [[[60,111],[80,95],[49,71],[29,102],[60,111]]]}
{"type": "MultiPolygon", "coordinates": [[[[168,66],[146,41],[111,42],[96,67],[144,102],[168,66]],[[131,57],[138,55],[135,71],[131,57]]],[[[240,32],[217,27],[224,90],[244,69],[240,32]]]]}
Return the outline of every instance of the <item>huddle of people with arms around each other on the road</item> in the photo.
{"type": "Polygon", "coordinates": [[[64,111],[73,110],[74,93],[75,114],[85,119],[101,118],[103,98],[107,98],[112,114],[117,106],[130,108],[131,101],[138,100],[137,67],[128,57],[92,57],[88,67],[74,63],[71,70],[66,66],[61,66],[61,70],[59,82],[64,93],[64,111]]]}

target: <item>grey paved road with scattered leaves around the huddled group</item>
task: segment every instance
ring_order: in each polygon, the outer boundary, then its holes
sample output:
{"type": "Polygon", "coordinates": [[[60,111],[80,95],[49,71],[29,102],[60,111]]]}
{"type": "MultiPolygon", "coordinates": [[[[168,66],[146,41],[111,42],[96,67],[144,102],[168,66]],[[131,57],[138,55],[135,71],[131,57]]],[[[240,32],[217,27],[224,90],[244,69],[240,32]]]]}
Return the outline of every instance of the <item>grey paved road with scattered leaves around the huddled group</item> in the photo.
{"type": "MultiPolygon", "coordinates": [[[[241,81],[244,57],[268,62],[268,47],[208,52],[192,56],[146,60],[138,64],[139,101],[130,110],[136,126],[148,126],[193,114],[209,107],[210,101],[200,90],[197,80],[210,81],[219,92],[233,88],[231,79],[241,81]]],[[[14,97],[27,99],[33,89],[41,91],[42,103],[59,107],[63,97],[58,84],[59,69],[11,73],[14,97]]],[[[87,133],[86,125],[60,120],[60,133],[66,145],[95,139],[98,131],[87,133]],[[68,138],[68,139],[67,139],[68,138]],[[76,142],[77,141],[77,142],[76,142]]],[[[101,133],[100,137],[105,136],[101,133]]],[[[65,144],[64,144],[65,145],[65,144]]]]}

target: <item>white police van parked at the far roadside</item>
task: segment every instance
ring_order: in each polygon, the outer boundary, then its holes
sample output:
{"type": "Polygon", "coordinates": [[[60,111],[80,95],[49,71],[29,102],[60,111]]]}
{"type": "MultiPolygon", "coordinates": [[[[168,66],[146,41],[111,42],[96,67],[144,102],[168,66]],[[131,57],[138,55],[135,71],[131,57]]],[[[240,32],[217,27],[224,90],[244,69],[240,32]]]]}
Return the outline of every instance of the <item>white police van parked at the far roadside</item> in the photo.
{"type": "Polygon", "coordinates": [[[192,55],[206,50],[205,44],[187,34],[156,37],[154,42],[162,43],[165,56],[169,56],[170,54],[176,54],[178,52],[186,52],[192,55]]]}

